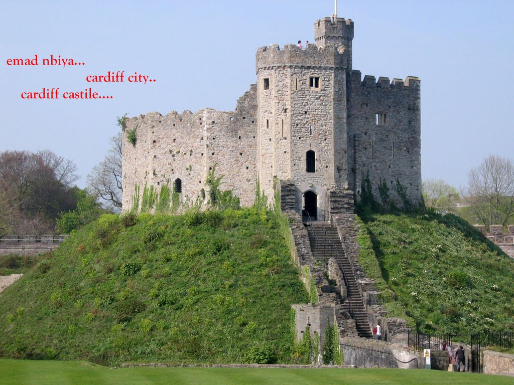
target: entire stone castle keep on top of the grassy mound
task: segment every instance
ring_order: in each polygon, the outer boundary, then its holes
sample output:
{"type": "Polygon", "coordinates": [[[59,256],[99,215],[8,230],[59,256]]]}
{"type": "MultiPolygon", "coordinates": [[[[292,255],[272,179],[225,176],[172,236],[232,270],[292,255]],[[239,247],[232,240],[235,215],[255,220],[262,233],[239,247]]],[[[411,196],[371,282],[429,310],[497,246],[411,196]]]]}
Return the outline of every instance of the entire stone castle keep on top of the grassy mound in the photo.
{"type": "Polygon", "coordinates": [[[351,20],[318,20],[314,36],[316,44],[303,50],[259,48],[256,84],[235,111],[151,112],[127,120],[137,139],[133,145],[124,134],[123,207],[133,206],[136,185],[141,195],[144,185],[168,184],[182,200],[195,201],[214,165],[224,175],[221,188],[242,205],[253,204],[257,180],[272,200],[278,179],[293,191],[290,206],[313,219],[334,211],[338,196],[355,191],[358,200],[368,173],[376,197],[386,182],[399,202],[398,181],[418,203],[419,79],[362,79],[352,69],[351,20]]]}

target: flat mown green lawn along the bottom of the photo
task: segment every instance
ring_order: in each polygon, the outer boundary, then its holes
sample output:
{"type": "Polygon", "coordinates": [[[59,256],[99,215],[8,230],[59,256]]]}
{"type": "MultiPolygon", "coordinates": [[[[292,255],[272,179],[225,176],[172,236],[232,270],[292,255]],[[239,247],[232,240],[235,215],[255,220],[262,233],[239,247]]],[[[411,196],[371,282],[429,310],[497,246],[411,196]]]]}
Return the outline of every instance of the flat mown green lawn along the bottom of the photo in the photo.
{"type": "Polygon", "coordinates": [[[502,385],[514,378],[405,369],[126,368],[80,361],[0,360],[3,385],[59,384],[435,384],[502,385]]]}

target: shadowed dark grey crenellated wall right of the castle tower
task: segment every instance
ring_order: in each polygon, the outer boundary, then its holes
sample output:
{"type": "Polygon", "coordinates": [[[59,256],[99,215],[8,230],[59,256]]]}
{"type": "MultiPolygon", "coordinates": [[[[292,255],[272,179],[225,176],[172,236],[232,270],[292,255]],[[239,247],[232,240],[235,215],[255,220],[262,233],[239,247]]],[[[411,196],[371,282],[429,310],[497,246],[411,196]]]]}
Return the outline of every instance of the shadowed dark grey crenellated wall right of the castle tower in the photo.
{"type": "Polygon", "coordinates": [[[350,189],[359,199],[362,178],[369,171],[374,195],[378,199],[380,180],[387,182],[391,196],[396,194],[396,179],[407,188],[413,204],[421,198],[421,123],[420,83],[417,78],[379,78],[352,71],[348,92],[348,164],[350,189]],[[377,124],[377,114],[386,121],[377,124]]]}

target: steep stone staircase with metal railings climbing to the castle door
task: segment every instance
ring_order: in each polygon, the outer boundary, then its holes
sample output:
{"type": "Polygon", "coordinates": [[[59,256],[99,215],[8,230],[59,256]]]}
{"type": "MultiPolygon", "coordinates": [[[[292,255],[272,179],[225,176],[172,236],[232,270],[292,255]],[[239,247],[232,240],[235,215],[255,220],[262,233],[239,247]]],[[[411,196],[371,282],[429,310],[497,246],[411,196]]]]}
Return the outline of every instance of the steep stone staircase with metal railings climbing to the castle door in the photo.
{"type": "Polygon", "coordinates": [[[350,260],[344,253],[337,228],[327,225],[326,222],[324,226],[321,222],[312,222],[310,226],[307,226],[307,232],[309,234],[310,248],[315,260],[324,262],[328,259],[336,260],[344,275],[347,298],[339,297],[340,305],[336,307],[336,318],[340,330],[344,329],[345,317],[347,318],[350,315],[355,321],[358,336],[373,338],[368,314],[359,291],[359,285],[355,280],[350,260]]]}

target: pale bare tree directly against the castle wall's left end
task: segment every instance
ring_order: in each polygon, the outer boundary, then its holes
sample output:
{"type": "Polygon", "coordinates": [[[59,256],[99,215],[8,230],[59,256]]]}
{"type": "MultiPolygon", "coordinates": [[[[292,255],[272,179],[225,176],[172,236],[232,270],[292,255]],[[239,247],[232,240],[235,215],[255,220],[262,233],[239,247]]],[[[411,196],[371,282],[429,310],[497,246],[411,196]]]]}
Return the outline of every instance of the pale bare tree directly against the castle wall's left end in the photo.
{"type": "Polygon", "coordinates": [[[87,176],[91,192],[98,195],[106,205],[121,208],[121,137],[122,132],[111,138],[111,148],[104,160],[98,163],[87,176]]]}

